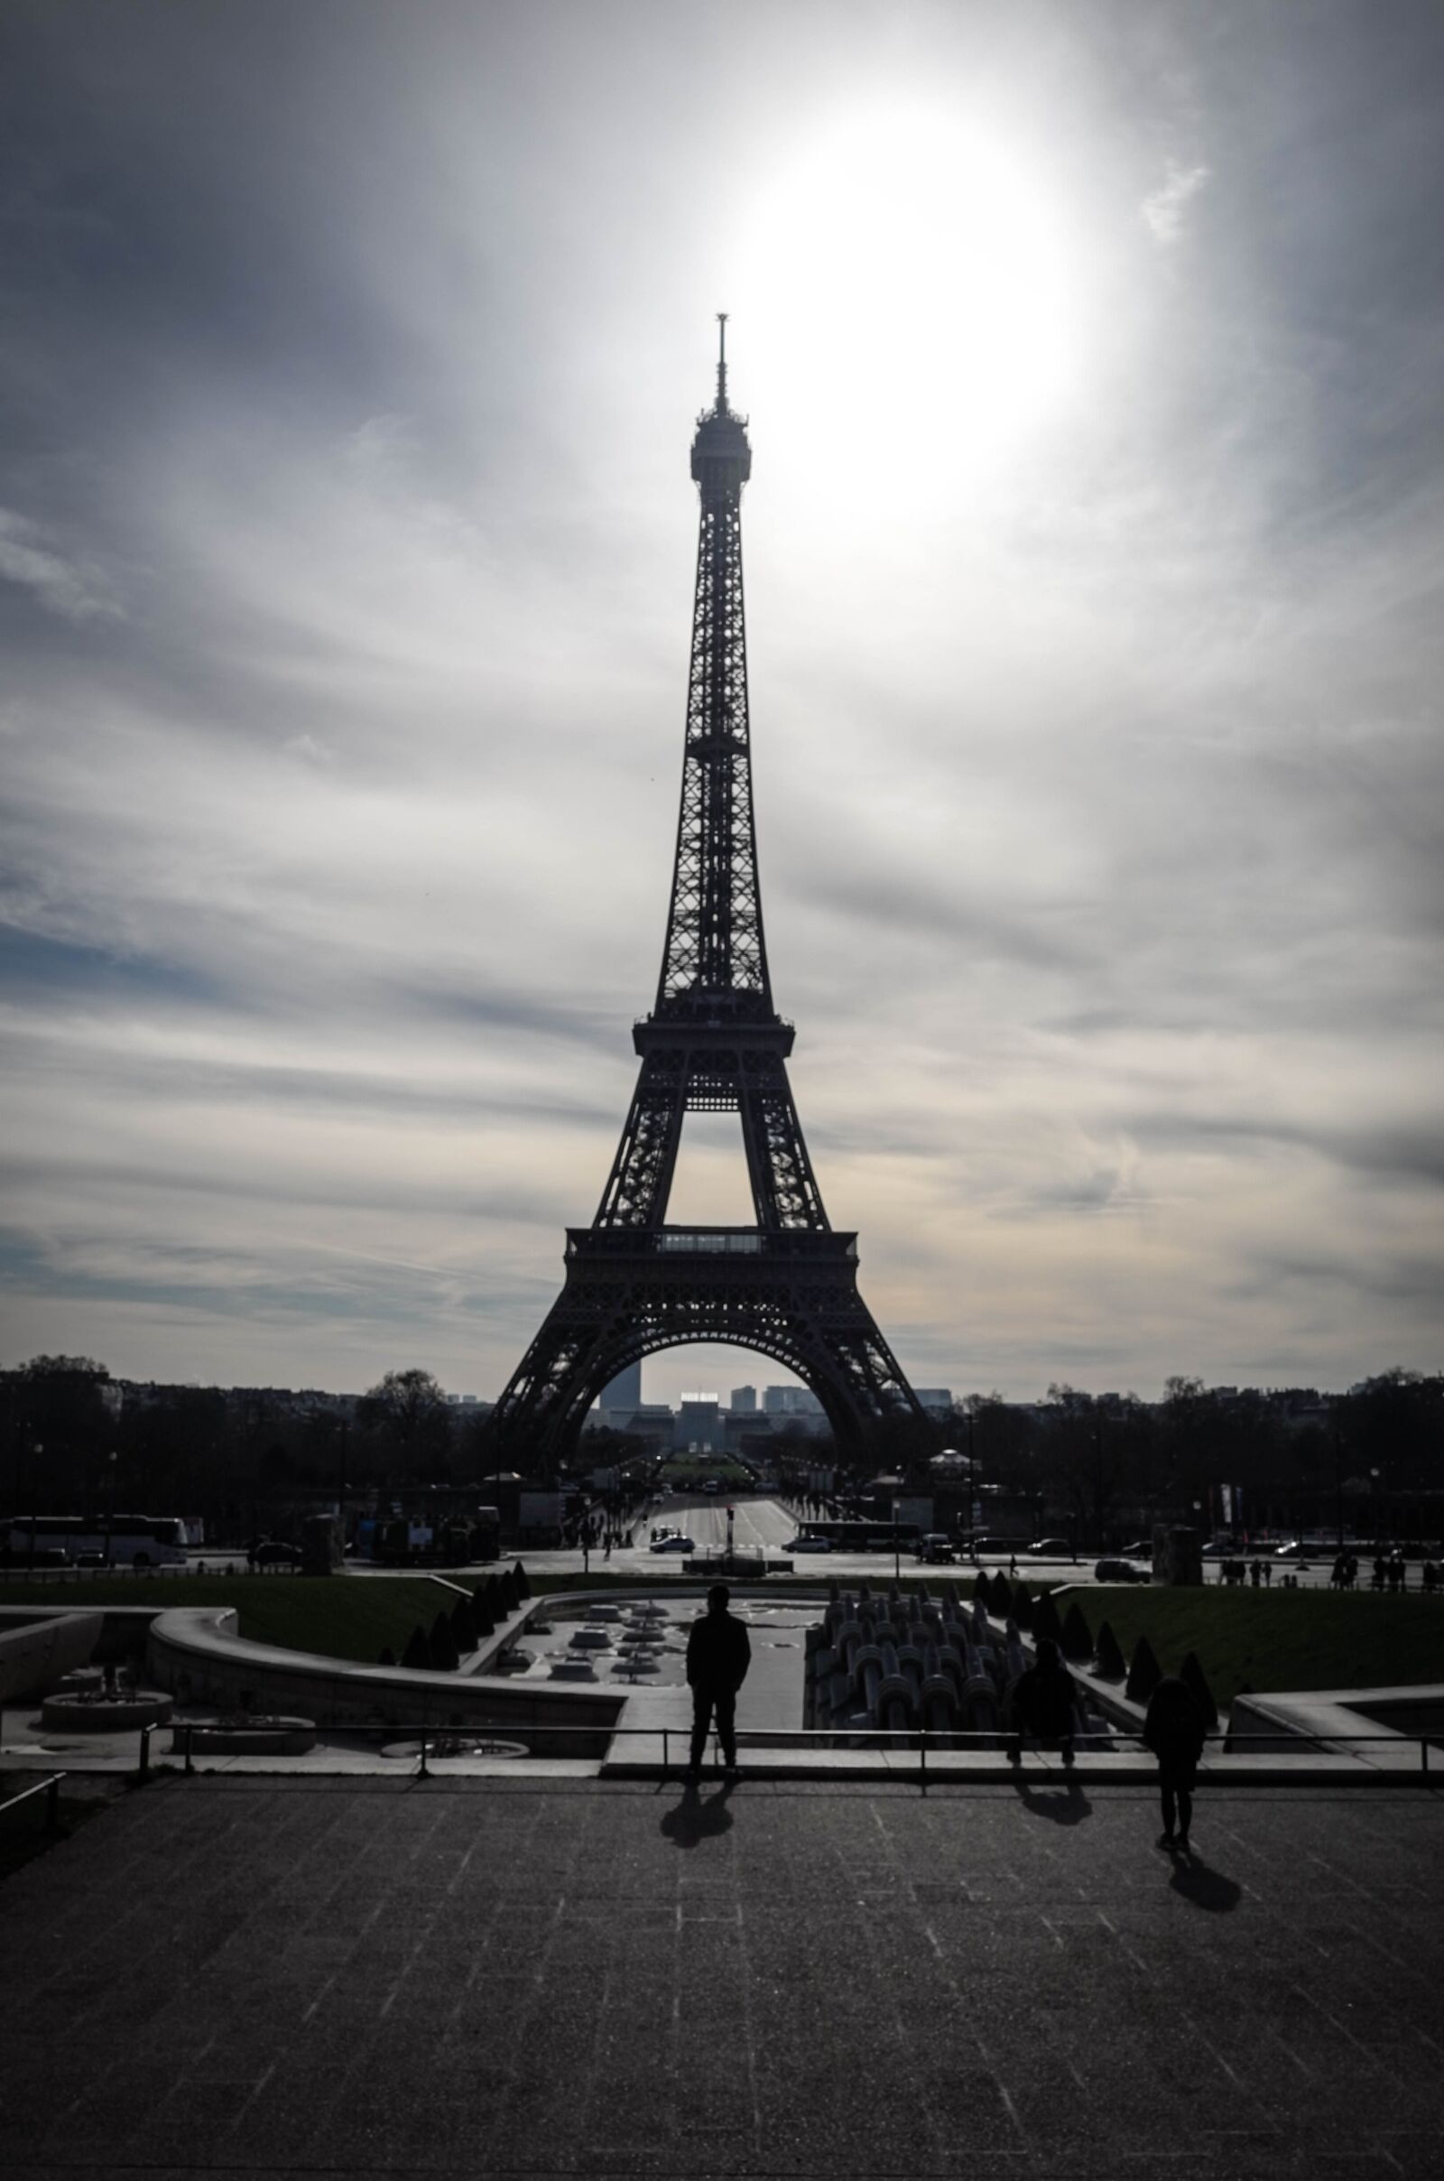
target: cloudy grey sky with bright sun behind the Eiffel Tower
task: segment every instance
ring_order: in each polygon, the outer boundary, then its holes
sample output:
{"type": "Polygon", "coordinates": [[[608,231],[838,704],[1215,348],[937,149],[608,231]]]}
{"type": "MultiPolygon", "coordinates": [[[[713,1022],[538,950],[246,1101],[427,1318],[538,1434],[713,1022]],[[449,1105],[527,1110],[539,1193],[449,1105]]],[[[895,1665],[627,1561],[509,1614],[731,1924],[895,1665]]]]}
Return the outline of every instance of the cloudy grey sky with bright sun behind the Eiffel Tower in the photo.
{"type": "Polygon", "coordinates": [[[1442,109],[1433,0],[9,0],[0,1363],[502,1389],[729,310],[772,988],[907,1374],[1440,1370],[1442,109]]]}

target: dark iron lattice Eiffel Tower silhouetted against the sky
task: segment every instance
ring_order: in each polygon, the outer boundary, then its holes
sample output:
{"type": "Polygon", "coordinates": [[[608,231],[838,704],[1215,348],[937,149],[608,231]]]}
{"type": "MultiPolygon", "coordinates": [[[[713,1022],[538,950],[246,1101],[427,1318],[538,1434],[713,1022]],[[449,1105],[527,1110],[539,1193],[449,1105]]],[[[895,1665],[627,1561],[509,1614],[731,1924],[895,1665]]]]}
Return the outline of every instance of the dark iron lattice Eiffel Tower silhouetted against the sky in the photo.
{"type": "Polygon", "coordinates": [[[698,419],[702,499],[676,868],[657,1003],[633,1025],[641,1060],[622,1143],[589,1228],[567,1228],[565,1285],[502,1394],[491,1431],[554,1468],[595,1396],[659,1348],[724,1341],[794,1372],[842,1453],[886,1418],[923,1424],[857,1293],[857,1237],[827,1224],[787,1082],[792,1023],[772,1005],[757,885],[742,486],[746,417],[718,399],[698,419]],[[667,1226],[687,1112],[739,1112],[755,1226],[667,1226]]]}

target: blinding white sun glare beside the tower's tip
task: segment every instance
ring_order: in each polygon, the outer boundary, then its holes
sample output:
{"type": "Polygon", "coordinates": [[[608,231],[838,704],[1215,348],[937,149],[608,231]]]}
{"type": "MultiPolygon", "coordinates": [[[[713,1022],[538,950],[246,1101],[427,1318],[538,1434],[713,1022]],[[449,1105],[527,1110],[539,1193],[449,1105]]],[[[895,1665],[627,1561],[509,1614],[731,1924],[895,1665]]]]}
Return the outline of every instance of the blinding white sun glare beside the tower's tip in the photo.
{"type": "MultiPolygon", "coordinates": [[[[936,109],[855,113],[759,194],[735,310],[787,434],[849,427],[920,495],[1008,458],[1078,379],[1067,205],[1021,153],[936,109]]],[[[807,449],[809,458],[816,447],[807,449]]]]}

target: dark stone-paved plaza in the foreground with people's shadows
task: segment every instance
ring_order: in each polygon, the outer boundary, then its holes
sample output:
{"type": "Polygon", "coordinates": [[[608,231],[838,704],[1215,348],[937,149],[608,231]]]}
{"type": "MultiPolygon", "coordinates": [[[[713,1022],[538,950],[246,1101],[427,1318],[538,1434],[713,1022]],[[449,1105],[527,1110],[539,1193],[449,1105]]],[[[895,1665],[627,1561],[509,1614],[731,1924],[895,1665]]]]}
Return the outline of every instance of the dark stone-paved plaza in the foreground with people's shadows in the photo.
{"type": "Polygon", "coordinates": [[[1444,2174],[1444,1804],[159,1780],[0,1887],[0,2168],[1444,2174]]]}

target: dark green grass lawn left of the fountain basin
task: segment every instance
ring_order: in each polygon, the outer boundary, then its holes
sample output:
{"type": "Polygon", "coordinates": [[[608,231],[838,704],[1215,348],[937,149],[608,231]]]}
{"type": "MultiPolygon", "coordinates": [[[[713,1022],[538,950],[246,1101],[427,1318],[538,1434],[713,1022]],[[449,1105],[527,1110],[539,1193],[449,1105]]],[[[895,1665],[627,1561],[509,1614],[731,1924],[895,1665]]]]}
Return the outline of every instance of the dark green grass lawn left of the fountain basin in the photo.
{"type": "MultiPolygon", "coordinates": [[[[462,1590],[471,1590],[462,1583],[462,1590]]],[[[430,1629],[456,1592],[423,1575],[96,1575],[76,1583],[0,1583],[0,1605],[233,1605],[240,1634],[286,1651],[375,1664],[401,1655],[417,1623],[430,1629]]]]}

